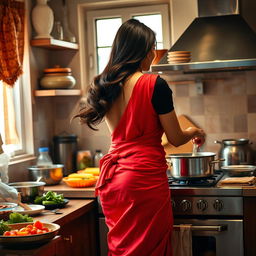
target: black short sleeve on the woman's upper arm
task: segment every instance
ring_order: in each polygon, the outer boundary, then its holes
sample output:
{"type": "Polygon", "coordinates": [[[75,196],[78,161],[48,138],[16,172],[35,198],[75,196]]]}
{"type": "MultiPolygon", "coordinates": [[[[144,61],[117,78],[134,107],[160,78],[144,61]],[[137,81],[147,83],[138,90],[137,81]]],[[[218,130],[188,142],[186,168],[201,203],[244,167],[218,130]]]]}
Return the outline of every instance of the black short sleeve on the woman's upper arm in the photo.
{"type": "Polygon", "coordinates": [[[161,77],[156,79],[151,102],[158,115],[167,114],[174,109],[172,90],[161,77]]]}

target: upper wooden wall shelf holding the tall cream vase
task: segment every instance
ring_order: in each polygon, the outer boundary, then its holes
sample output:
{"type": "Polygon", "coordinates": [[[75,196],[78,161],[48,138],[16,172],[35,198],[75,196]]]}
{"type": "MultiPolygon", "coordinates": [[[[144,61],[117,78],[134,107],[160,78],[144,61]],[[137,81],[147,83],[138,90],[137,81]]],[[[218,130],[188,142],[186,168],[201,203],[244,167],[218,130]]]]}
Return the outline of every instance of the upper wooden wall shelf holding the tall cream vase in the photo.
{"type": "Polygon", "coordinates": [[[31,46],[43,47],[50,50],[78,50],[78,44],[56,40],[53,38],[32,39],[31,46]]]}

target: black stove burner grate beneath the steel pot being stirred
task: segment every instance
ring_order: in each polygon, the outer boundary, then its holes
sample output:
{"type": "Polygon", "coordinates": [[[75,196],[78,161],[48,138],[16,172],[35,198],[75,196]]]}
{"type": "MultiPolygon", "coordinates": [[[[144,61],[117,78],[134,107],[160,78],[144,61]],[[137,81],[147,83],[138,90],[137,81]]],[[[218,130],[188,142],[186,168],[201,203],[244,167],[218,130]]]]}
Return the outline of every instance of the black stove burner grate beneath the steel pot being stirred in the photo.
{"type": "Polygon", "coordinates": [[[210,177],[203,177],[198,179],[177,180],[173,177],[168,178],[169,186],[181,187],[213,187],[222,178],[222,171],[215,171],[215,174],[210,177]]]}

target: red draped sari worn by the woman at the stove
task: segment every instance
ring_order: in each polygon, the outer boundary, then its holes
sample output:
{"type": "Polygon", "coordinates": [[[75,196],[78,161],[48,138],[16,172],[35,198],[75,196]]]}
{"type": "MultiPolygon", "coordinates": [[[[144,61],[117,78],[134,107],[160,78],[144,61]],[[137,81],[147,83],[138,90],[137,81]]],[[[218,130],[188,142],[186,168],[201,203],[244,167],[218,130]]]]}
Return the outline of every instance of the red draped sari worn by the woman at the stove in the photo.
{"type": "Polygon", "coordinates": [[[170,256],[173,216],[163,129],[151,98],[156,75],[134,86],[100,163],[96,193],[109,227],[109,256],[170,256]]]}

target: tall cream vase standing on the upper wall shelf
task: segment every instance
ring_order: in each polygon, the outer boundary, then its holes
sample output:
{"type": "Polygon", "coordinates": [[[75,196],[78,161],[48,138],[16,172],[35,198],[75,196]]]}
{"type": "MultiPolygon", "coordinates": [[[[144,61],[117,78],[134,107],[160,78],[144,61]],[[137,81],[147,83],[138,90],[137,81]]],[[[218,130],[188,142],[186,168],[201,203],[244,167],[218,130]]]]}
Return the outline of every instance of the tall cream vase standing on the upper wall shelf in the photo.
{"type": "Polygon", "coordinates": [[[32,10],[32,24],[36,31],[34,38],[52,38],[50,33],[53,22],[53,11],[47,5],[47,0],[37,0],[37,4],[32,10]]]}

